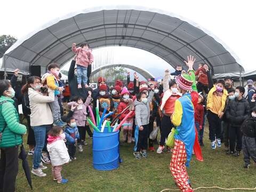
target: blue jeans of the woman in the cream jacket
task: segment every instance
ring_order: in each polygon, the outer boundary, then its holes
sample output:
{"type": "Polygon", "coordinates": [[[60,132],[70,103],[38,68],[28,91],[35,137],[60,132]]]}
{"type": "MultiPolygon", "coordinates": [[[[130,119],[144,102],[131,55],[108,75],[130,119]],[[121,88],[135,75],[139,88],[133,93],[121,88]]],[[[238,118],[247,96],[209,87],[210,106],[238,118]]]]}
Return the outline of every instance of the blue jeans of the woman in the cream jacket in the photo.
{"type": "Polygon", "coordinates": [[[33,161],[33,168],[37,169],[39,167],[39,164],[41,163],[41,154],[42,149],[45,145],[45,136],[46,136],[46,129],[50,125],[41,125],[41,126],[34,126],[34,133],[35,133],[35,141],[36,146],[34,150],[34,161],[33,161]]]}

